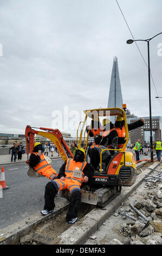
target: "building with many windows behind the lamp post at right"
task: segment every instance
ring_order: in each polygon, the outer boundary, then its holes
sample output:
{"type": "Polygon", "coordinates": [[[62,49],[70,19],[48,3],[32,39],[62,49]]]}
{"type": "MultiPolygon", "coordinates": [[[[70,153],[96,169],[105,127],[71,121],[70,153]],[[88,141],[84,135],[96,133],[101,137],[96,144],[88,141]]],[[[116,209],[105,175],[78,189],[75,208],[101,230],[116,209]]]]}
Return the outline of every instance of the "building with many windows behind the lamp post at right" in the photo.
{"type": "MultiPolygon", "coordinates": [[[[142,144],[150,144],[150,117],[142,117],[145,119],[145,125],[138,127],[135,130],[129,131],[129,139],[132,144],[140,139],[142,144]]],[[[138,121],[140,118],[131,118],[130,123],[138,121]]],[[[161,128],[162,128],[162,119],[161,117],[152,117],[152,138],[153,142],[160,139],[161,141],[161,128]]]]}

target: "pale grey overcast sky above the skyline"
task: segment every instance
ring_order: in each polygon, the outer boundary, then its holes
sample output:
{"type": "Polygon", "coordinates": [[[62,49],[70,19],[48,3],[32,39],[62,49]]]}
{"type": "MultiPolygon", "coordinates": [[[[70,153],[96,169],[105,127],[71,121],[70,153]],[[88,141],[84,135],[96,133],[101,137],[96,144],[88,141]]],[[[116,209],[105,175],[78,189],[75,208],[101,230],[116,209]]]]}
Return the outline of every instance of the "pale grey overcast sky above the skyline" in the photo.
{"type": "MultiPolygon", "coordinates": [[[[161,0],[118,3],[135,39],[162,32],[161,0]]],[[[0,24],[0,132],[51,127],[64,106],[107,107],[114,56],[124,103],[149,115],[147,66],[135,43],[126,44],[132,36],[115,0],[0,0],[0,24]]],[[[150,42],[150,62],[162,97],[160,43],[162,55],[162,34],[150,42]]],[[[138,46],[147,63],[147,43],[138,46]]],[[[155,88],[151,81],[152,115],[162,115],[155,88]]]]}

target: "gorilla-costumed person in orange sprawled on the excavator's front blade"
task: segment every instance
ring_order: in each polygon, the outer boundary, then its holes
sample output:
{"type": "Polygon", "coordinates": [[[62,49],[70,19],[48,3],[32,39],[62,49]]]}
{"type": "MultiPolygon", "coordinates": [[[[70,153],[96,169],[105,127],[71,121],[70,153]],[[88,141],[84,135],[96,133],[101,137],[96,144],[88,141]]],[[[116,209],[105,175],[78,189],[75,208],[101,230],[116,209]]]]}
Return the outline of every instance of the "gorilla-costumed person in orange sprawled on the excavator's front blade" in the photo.
{"type": "Polygon", "coordinates": [[[59,190],[68,190],[71,194],[69,210],[66,215],[68,224],[79,221],[78,211],[81,203],[81,185],[88,182],[93,174],[93,167],[85,160],[85,150],[77,149],[73,159],[67,159],[60,168],[59,175],[55,180],[48,182],[45,188],[45,203],[42,215],[53,212],[55,208],[54,199],[59,190]]]}

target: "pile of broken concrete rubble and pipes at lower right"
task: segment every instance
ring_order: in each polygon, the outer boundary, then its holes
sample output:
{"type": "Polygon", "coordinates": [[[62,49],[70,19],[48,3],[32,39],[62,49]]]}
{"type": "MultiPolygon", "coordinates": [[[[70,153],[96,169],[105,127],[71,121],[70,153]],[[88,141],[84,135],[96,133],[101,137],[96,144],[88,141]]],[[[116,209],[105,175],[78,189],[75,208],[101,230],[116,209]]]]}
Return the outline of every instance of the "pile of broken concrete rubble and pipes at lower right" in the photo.
{"type": "MultiPolygon", "coordinates": [[[[156,175],[158,178],[161,176],[159,173],[153,176],[156,175]]],[[[130,220],[123,224],[120,233],[130,237],[132,245],[162,245],[162,185],[160,179],[148,177],[145,179],[144,187],[147,192],[143,200],[135,200],[134,205],[126,200],[118,210],[122,219],[130,220]]]]}

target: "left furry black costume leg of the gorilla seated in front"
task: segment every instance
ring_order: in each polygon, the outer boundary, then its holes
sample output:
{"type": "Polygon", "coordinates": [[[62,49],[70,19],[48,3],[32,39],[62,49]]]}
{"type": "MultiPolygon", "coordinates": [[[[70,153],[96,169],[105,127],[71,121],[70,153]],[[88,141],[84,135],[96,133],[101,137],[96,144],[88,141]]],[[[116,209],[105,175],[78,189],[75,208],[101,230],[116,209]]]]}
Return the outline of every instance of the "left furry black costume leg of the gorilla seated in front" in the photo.
{"type": "Polygon", "coordinates": [[[53,182],[48,182],[45,188],[45,194],[44,194],[44,199],[45,199],[45,204],[44,204],[44,210],[54,210],[55,208],[55,203],[54,199],[57,194],[57,190],[53,184],[53,182]]]}

